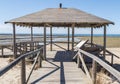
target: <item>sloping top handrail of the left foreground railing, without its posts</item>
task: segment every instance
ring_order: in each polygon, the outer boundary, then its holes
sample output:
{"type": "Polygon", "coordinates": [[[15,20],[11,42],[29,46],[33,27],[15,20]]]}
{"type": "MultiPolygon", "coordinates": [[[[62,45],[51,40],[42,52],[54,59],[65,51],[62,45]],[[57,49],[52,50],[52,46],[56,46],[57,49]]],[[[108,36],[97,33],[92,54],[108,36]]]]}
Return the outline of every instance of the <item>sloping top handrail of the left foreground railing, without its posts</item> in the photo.
{"type": "Polygon", "coordinates": [[[28,52],[26,54],[23,54],[23,55],[20,55],[18,58],[16,58],[14,61],[12,61],[9,65],[7,65],[6,67],[2,68],[0,70],[0,76],[2,76],[4,73],[6,73],[7,71],[9,71],[11,68],[13,68],[16,64],[18,64],[22,59],[30,56],[31,54],[36,54],[37,52],[40,52],[40,50],[42,49],[43,47],[39,48],[39,49],[36,49],[35,51],[31,51],[31,52],[28,52]]]}

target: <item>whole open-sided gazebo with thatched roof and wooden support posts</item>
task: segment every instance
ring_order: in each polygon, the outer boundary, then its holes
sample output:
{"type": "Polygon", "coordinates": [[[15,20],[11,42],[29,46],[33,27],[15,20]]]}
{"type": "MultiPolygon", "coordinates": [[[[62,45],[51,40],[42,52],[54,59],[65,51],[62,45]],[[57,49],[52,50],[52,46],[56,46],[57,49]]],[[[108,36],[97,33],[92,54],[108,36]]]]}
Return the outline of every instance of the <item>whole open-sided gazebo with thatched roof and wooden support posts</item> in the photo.
{"type": "MultiPolygon", "coordinates": [[[[13,45],[14,55],[16,55],[16,37],[15,26],[21,27],[44,27],[44,56],[46,57],[46,28],[50,27],[51,45],[52,45],[52,28],[68,27],[68,49],[69,49],[69,29],[72,29],[72,50],[74,47],[74,28],[91,28],[91,43],[93,38],[93,28],[104,27],[104,50],[106,48],[106,26],[114,24],[113,22],[86,13],[75,8],[48,8],[36,13],[25,15],[16,19],[12,19],[5,23],[13,24],[13,45]]],[[[105,54],[105,51],[104,51],[105,54]]]]}

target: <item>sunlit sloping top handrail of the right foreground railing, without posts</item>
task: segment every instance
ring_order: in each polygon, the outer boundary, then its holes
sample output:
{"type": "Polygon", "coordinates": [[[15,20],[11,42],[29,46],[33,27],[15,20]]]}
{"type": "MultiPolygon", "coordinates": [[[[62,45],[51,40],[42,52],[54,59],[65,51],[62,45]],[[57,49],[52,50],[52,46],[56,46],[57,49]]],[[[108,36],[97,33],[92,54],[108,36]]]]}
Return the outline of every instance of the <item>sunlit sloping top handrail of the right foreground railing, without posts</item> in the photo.
{"type": "Polygon", "coordinates": [[[78,49],[79,53],[82,53],[90,58],[92,58],[93,60],[95,60],[97,63],[99,63],[103,68],[105,68],[109,73],[111,73],[114,77],[116,77],[118,79],[118,81],[120,82],[120,72],[117,71],[116,69],[114,69],[113,67],[111,67],[110,65],[108,65],[106,62],[104,62],[103,60],[101,60],[99,57],[88,53],[84,50],[78,49]]]}

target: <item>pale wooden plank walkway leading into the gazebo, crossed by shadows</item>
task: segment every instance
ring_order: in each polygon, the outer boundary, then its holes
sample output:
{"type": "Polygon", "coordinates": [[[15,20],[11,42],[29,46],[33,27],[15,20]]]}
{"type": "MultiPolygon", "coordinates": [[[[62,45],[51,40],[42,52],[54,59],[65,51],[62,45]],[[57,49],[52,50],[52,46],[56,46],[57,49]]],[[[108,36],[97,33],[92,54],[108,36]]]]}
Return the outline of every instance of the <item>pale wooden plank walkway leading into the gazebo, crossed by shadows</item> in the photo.
{"type": "Polygon", "coordinates": [[[47,51],[47,61],[35,70],[31,84],[92,84],[84,72],[72,61],[70,51],[47,51]]]}

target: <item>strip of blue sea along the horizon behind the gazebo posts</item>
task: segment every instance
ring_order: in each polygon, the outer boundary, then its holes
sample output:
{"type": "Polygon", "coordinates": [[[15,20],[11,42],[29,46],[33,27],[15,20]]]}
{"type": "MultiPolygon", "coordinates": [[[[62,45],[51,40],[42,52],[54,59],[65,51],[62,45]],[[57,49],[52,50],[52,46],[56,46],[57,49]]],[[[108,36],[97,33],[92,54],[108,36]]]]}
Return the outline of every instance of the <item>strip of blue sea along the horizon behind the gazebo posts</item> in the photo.
{"type": "MultiPolygon", "coordinates": [[[[53,38],[62,38],[62,37],[67,37],[67,34],[53,34],[53,38]]],[[[70,36],[72,36],[70,34],[70,36]]],[[[85,37],[85,36],[91,36],[91,34],[75,34],[75,37],[85,37]]],[[[93,36],[95,37],[101,37],[103,36],[103,34],[94,34],[93,36]]],[[[120,34],[107,34],[107,37],[120,37],[120,34]]],[[[33,35],[34,38],[36,39],[40,39],[43,37],[43,34],[34,34],[33,35]]],[[[50,37],[49,34],[47,34],[47,38],[50,37]]],[[[6,33],[6,34],[0,34],[0,44],[3,43],[10,43],[12,42],[12,34],[6,33]]],[[[30,40],[31,36],[30,34],[16,34],[16,39],[17,41],[28,41],[30,40]]]]}

